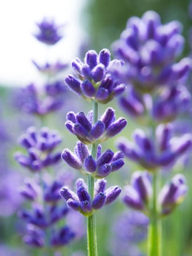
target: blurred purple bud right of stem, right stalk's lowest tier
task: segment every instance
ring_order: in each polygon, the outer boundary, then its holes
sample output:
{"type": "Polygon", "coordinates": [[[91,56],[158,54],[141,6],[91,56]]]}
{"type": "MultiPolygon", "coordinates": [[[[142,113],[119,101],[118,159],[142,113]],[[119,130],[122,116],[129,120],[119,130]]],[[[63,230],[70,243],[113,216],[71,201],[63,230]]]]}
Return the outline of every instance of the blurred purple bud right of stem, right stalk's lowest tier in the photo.
{"type": "Polygon", "coordinates": [[[161,215],[170,214],[183,201],[187,190],[186,179],[182,174],[175,175],[169,183],[164,185],[158,198],[161,215]]]}

